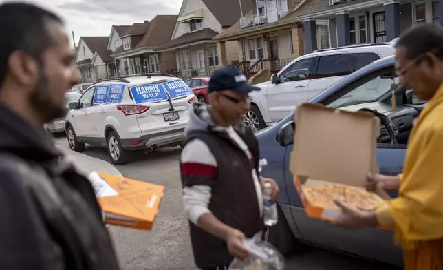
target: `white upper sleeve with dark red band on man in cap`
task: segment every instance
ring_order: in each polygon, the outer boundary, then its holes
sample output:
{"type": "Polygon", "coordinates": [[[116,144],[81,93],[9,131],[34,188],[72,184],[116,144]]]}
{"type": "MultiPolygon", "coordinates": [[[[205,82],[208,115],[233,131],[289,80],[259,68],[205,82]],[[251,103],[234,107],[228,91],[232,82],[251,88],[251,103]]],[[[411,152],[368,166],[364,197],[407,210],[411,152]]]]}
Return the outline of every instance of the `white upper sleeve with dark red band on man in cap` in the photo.
{"type": "Polygon", "coordinates": [[[217,160],[208,145],[198,138],[185,145],[180,163],[184,187],[211,186],[217,176],[217,160]]]}

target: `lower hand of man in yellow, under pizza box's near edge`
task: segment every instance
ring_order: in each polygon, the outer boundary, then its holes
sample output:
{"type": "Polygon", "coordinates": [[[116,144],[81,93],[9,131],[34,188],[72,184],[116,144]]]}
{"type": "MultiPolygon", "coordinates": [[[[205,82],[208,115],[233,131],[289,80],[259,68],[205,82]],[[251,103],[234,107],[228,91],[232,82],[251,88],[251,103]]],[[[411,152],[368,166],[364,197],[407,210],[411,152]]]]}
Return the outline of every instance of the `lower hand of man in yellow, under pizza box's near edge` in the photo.
{"type": "Polygon", "coordinates": [[[335,201],[335,203],[341,208],[341,214],[330,222],[332,225],[346,229],[360,229],[364,227],[376,227],[378,225],[374,213],[360,211],[341,201],[335,201]]]}

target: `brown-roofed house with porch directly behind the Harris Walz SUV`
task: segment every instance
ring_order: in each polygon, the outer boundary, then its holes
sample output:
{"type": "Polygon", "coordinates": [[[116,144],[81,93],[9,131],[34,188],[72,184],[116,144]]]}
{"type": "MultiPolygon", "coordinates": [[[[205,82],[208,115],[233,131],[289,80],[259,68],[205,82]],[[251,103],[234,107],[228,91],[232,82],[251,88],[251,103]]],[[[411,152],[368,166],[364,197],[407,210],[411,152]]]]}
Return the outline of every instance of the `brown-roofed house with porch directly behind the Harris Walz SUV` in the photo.
{"type": "Polygon", "coordinates": [[[156,49],[171,40],[176,15],[158,15],[151,21],[134,23],[120,35],[122,45],[111,54],[118,75],[174,72],[175,54],[156,49]]]}

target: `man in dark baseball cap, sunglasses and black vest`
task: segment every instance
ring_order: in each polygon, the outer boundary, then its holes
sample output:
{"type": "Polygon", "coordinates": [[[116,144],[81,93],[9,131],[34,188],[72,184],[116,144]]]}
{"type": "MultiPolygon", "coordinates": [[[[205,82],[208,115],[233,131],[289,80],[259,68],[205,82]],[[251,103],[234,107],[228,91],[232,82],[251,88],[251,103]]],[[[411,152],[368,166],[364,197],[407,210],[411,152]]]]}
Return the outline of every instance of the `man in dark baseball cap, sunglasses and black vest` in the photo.
{"type": "Polygon", "coordinates": [[[250,85],[237,67],[222,67],[209,80],[210,105],[194,103],[180,156],[183,200],[190,220],[195,263],[200,269],[228,269],[233,258],[247,260],[243,245],[264,229],[259,148],[242,118],[250,108],[250,85]]]}

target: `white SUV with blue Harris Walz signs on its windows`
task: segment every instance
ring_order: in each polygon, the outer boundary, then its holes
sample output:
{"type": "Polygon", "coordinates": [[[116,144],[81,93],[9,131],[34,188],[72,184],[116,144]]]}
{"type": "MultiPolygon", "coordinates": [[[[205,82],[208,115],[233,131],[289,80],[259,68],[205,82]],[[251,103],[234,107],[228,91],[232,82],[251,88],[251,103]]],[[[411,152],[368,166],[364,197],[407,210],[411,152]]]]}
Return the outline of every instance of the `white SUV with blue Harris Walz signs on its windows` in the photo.
{"type": "Polygon", "coordinates": [[[107,147],[114,164],[128,161],[132,150],[180,145],[191,103],[197,101],[180,78],[140,74],[94,83],[69,104],[65,129],[69,147],[85,143],[107,147]]]}

